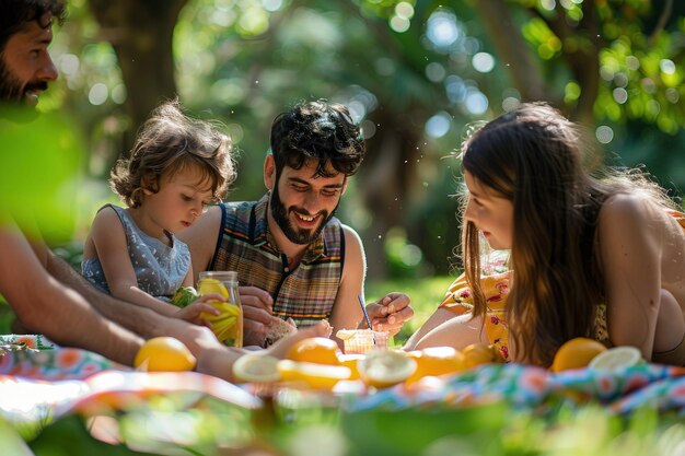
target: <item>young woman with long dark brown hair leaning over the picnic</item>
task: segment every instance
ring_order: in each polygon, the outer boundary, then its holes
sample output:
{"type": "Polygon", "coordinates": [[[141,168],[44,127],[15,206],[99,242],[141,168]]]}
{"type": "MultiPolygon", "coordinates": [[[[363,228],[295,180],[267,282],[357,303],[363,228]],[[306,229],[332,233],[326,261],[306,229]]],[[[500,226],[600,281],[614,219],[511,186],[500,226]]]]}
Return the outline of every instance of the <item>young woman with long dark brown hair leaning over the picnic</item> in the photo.
{"type": "Polygon", "coordinates": [[[590,337],[685,365],[685,215],[663,189],[636,169],[588,171],[580,130],[545,104],[490,121],[461,160],[465,278],[407,348],[499,343],[549,366],[590,337]],[[511,249],[509,272],[483,279],[481,236],[511,249]]]}

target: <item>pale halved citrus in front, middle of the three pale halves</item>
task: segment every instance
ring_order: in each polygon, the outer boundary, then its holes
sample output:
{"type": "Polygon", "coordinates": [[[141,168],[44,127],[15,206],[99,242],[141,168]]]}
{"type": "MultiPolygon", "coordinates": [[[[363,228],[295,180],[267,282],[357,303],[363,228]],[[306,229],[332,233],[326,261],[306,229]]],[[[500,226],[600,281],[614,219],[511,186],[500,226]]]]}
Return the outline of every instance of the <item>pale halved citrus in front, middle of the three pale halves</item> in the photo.
{"type": "Polygon", "coordinates": [[[416,371],[416,361],[403,351],[374,350],[359,360],[357,367],[367,385],[386,388],[409,378],[416,371]]]}

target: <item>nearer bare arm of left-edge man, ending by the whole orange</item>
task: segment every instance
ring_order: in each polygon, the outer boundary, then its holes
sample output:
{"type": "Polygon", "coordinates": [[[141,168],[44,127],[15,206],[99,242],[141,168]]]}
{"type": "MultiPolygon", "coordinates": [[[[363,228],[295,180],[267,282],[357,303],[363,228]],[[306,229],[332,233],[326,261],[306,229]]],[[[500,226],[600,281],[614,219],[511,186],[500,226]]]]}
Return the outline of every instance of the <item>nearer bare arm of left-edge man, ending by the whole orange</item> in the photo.
{"type": "MultiPolygon", "coordinates": [[[[23,325],[59,344],[132,364],[142,343],[140,337],[103,318],[73,288],[48,273],[18,230],[0,229],[0,292],[23,325]]],[[[38,252],[48,255],[50,264],[47,248],[38,252]]]]}

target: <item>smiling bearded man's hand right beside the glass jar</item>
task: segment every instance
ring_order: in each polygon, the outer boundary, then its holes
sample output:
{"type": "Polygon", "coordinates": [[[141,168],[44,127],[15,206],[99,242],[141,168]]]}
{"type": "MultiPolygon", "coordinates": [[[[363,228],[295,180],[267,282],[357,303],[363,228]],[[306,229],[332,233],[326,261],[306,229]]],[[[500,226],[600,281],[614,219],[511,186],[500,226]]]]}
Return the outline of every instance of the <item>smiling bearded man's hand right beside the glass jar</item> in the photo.
{"type": "Polygon", "coordinates": [[[243,305],[243,346],[264,347],[274,316],[274,300],[266,291],[256,287],[240,287],[243,305]]]}

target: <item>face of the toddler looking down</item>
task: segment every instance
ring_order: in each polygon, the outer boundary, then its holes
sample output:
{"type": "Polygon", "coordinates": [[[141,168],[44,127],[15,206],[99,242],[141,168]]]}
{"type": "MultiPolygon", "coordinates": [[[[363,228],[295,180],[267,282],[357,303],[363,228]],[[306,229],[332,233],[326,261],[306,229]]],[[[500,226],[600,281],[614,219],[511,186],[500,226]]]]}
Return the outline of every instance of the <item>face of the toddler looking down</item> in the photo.
{"type": "Polygon", "coordinates": [[[211,184],[197,166],[173,176],[162,175],[159,191],[146,191],[141,208],[161,229],[179,233],[190,226],[212,202],[211,184]]]}

